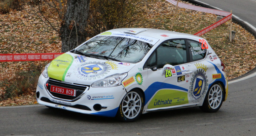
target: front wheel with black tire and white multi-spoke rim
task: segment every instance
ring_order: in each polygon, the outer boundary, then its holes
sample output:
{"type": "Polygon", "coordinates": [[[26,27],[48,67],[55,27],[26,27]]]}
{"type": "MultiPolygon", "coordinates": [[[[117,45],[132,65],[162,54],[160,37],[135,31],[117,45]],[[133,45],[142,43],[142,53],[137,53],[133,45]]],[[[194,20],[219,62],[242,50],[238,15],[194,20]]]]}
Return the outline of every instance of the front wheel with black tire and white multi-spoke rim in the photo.
{"type": "Polygon", "coordinates": [[[123,122],[132,122],[140,117],[143,108],[142,93],[137,89],[131,90],[121,101],[116,117],[123,122]]]}

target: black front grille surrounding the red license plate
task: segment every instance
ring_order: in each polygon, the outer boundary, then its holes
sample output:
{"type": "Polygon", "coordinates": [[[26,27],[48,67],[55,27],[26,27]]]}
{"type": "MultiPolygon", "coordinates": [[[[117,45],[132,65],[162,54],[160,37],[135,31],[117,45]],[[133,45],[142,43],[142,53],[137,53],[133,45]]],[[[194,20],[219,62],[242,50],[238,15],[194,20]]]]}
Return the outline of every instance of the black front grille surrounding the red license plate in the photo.
{"type": "Polygon", "coordinates": [[[50,78],[46,84],[45,84],[48,92],[52,94],[53,97],[63,99],[63,100],[69,100],[69,101],[75,101],[80,98],[80,96],[85,93],[86,90],[89,89],[89,86],[86,85],[81,85],[81,84],[72,84],[72,83],[66,83],[66,82],[61,82],[59,80],[55,80],[50,78]],[[68,89],[74,89],[76,90],[76,96],[68,96],[65,94],[59,94],[55,92],[51,92],[51,85],[59,86],[59,87],[64,87],[68,89]]]}

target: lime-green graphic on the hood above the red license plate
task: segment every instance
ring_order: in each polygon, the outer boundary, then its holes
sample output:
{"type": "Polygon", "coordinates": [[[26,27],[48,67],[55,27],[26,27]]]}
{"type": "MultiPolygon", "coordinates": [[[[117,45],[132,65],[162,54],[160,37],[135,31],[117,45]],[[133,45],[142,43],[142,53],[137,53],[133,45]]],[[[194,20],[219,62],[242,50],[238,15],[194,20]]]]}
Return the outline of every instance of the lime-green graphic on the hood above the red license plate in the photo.
{"type": "Polygon", "coordinates": [[[66,73],[73,63],[74,58],[69,54],[62,54],[56,59],[53,59],[48,67],[48,76],[57,80],[65,80],[66,73]]]}

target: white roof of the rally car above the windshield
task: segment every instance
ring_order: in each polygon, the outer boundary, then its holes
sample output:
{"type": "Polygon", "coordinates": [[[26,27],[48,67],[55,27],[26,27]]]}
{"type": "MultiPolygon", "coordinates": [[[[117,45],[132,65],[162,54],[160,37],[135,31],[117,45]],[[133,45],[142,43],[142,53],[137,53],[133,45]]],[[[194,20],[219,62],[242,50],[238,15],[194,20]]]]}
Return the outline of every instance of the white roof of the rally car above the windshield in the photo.
{"type": "Polygon", "coordinates": [[[118,31],[124,34],[129,33],[133,35],[143,35],[148,37],[154,37],[154,38],[158,38],[160,41],[175,39],[175,38],[189,38],[192,40],[202,39],[201,37],[187,34],[187,33],[152,29],[152,28],[117,28],[117,29],[108,30],[108,31],[110,32],[118,31]]]}

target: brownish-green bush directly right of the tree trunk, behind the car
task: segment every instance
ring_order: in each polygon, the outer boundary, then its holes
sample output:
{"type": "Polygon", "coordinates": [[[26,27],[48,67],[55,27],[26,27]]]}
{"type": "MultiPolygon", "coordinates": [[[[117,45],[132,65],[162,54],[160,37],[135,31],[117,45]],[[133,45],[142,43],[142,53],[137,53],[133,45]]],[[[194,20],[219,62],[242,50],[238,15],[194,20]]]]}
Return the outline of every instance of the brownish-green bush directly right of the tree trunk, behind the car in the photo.
{"type": "Polygon", "coordinates": [[[114,28],[131,27],[142,19],[142,5],[152,0],[91,0],[88,17],[89,37],[114,28]]]}

